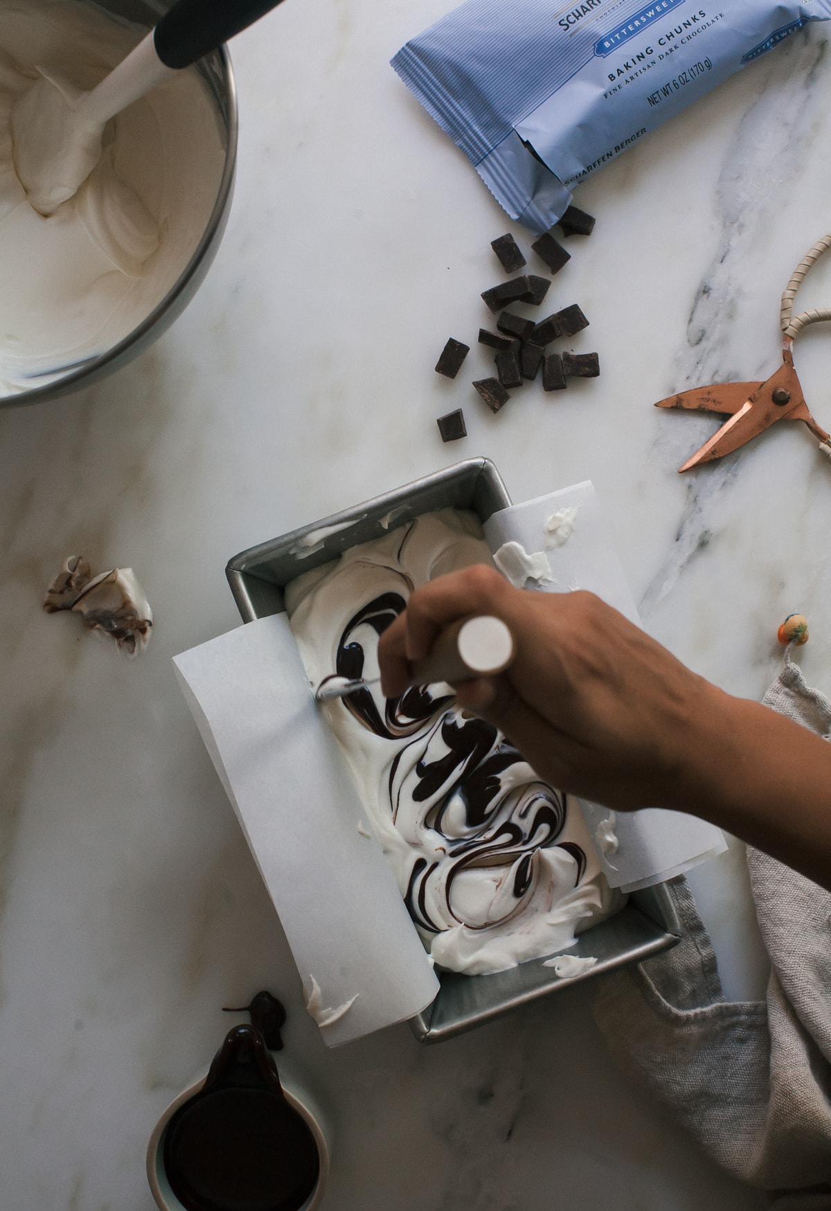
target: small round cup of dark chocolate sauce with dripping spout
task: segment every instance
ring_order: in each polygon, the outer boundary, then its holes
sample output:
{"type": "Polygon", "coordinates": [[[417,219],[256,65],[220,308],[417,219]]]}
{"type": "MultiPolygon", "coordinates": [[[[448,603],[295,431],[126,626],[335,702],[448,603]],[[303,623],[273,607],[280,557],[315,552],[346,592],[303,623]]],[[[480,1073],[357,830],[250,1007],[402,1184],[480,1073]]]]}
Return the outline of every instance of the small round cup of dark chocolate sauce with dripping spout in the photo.
{"type": "Polygon", "coordinates": [[[319,1112],[281,1078],[253,1026],[229,1031],[206,1075],[167,1107],[147,1153],[161,1211],[315,1211],[328,1167],[319,1112]]]}

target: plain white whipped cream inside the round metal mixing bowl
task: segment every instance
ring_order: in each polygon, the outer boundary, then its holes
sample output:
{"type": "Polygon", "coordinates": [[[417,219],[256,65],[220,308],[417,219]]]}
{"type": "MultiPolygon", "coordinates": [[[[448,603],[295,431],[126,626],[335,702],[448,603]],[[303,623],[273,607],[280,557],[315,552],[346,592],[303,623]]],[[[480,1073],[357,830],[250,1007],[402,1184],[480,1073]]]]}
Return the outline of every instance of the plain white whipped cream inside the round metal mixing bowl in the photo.
{"type": "Polygon", "coordinates": [[[107,125],[98,166],[48,218],[15,171],[12,108],[36,67],[88,90],[145,33],[82,0],[0,0],[0,396],[52,381],[127,337],[206,230],[224,136],[194,68],[107,125]]]}

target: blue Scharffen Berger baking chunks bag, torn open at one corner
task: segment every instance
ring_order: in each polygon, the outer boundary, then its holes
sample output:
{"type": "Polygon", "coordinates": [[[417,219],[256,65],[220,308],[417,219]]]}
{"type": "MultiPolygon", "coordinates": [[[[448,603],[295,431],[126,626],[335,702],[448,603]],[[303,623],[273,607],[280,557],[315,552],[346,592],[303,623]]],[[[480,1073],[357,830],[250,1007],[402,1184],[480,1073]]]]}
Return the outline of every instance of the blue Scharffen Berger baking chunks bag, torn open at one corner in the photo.
{"type": "Polygon", "coordinates": [[[548,231],[569,189],[831,0],[468,0],[392,67],[497,201],[548,231]]]}

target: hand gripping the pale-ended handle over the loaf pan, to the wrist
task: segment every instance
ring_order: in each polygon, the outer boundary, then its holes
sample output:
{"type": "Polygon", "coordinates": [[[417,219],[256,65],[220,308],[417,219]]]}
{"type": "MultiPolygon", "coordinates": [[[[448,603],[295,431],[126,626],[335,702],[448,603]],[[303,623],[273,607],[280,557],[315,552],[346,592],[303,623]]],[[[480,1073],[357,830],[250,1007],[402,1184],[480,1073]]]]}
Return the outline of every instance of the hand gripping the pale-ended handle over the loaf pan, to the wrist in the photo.
{"type": "Polygon", "coordinates": [[[384,694],[451,622],[495,614],[516,658],[499,677],[457,685],[554,786],[611,808],[684,808],[701,793],[710,731],[727,695],[592,593],[517,590],[478,564],[430,581],[384,632],[384,694]]]}

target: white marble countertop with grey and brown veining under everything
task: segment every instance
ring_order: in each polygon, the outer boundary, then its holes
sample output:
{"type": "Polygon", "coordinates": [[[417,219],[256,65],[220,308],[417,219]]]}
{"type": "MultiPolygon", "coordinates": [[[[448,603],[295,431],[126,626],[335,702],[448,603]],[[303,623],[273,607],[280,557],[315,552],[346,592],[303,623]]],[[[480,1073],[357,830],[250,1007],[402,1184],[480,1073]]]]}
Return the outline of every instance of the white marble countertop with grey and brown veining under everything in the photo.
{"type": "MultiPolygon", "coordinates": [[[[804,613],[831,688],[831,466],[781,425],[688,477],[715,427],[654,400],[766,378],[778,303],[830,224],[821,27],[651,134],[577,195],[557,306],[602,378],[492,417],[464,373],[512,229],[388,59],[447,0],[291,0],[233,48],[236,197],[173,328],[115,377],[0,414],[0,1205],[149,1211],[144,1148],[260,987],[337,1121],[326,1209],[744,1211],[761,1206],[617,1073],[585,987],[437,1048],[406,1026],[327,1052],[171,656],[237,624],[237,551],[470,455],[514,499],[591,478],[644,625],[727,690],[761,696],[804,613]],[[435,418],[464,406],[469,436],[435,418]],[[41,613],[69,553],[132,566],[156,625],[128,664],[41,613]]],[[[831,258],[801,306],[831,302],[831,258]]],[[[831,426],[829,333],[797,343],[831,426]]],[[[469,373],[475,371],[476,373],[469,373]]],[[[729,994],[763,982],[741,846],[694,876],[729,994]]]]}

